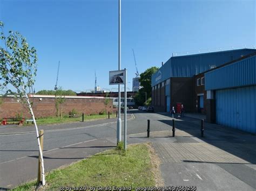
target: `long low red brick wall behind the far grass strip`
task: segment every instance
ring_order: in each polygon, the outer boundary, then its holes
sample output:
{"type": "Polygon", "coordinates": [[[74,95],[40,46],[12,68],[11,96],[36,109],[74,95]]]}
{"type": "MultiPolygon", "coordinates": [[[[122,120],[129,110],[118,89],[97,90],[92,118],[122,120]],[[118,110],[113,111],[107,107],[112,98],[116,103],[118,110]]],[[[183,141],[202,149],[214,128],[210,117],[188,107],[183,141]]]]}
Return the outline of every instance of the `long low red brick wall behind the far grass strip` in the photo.
{"type": "MultiPolygon", "coordinates": [[[[0,119],[3,117],[16,117],[17,114],[23,114],[23,117],[30,117],[26,107],[17,102],[17,98],[3,97],[3,103],[0,105],[0,119]]],[[[105,110],[104,99],[95,98],[65,98],[65,102],[62,104],[63,115],[69,115],[72,109],[75,109],[79,114],[84,112],[85,115],[99,114],[105,110]]],[[[48,117],[56,116],[55,98],[31,98],[33,102],[33,112],[36,117],[48,117]]],[[[60,110],[61,107],[59,107],[60,110]]],[[[113,102],[109,101],[106,107],[107,112],[113,111],[113,102]]]]}

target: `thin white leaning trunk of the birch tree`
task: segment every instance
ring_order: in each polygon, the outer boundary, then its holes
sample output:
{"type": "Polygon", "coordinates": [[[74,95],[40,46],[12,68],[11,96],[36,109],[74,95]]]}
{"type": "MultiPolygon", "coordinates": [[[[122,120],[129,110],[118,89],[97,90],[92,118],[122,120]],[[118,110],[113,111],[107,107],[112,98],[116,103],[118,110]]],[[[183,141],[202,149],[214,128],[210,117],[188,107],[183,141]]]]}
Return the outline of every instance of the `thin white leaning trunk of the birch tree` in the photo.
{"type": "Polygon", "coordinates": [[[45,185],[45,178],[44,178],[44,158],[43,158],[43,152],[42,152],[42,149],[41,149],[41,144],[40,144],[40,140],[39,140],[39,133],[38,133],[38,128],[37,128],[37,124],[36,124],[36,119],[35,119],[35,116],[33,114],[33,110],[32,110],[32,107],[31,107],[31,104],[30,104],[30,101],[29,101],[29,97],[28,95],[26,94],[25,92],[25,89],[24,87],[23,88],[23,91],[25,93],[25,97],[26,97],[26,101],[28,102],[28,106],[29,106],[29,111],[30,111],[30,114],[33,118],[33,122],[35,124],[35,128],[36,128],[36,136],[37,136],[37,143],[38,143],[38,147],[39,147],[39,157],[41,158],[41,161],[42,161],[42,185],[44,186],[45,185]]]}

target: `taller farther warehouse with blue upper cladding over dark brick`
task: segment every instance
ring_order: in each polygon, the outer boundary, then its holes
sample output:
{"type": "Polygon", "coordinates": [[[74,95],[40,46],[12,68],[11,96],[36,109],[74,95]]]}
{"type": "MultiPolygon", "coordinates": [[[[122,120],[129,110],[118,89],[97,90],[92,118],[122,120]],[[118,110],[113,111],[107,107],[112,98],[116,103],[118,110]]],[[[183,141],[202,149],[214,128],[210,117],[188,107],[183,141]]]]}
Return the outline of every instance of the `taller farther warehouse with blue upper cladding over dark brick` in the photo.
{"type": "MultiPolygon", "coordinates": [[[[255,52],[237,49],[212,53],[172,56],[151,77],[152,105],[156,111],[170,111],[178,102],[194,112],[193,76],[255,52]]],[[[199,102],[203,107],[203,101],[199,102]]]]}

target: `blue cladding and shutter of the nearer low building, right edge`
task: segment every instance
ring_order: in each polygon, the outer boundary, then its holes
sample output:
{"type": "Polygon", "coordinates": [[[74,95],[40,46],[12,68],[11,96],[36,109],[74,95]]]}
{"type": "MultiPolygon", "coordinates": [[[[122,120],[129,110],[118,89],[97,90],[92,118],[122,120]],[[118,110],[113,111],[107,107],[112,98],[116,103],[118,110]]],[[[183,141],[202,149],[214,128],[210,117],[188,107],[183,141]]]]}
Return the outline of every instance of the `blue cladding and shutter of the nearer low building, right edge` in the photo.
{"type": "Polygon", "coordinates": [[[256,55],[205,73],[215,122],[256,133],[256,55]]]}

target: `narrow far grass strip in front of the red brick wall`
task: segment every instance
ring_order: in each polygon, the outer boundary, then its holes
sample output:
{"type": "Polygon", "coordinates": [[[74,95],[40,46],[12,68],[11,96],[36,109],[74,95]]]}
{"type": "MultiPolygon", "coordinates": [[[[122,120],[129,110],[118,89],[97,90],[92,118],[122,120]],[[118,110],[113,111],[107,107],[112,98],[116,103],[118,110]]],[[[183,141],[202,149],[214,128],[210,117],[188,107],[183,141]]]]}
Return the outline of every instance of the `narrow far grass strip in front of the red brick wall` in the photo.
{"type": "MultiPolygon", "coordinates": [[[[91,121],[96,119],[106,119],[109,115],[90,115],[84,116],[84,121],[91,121]]],[[[110,115],[111,118],[116,117],[116,115],[110,115]]],[[[68,117],[64,116],[62,119],[60,117],[42,117],[36,119],[37,125],[46,125],[46,124],[58,124],[58,123],[69,123],[69,122],[82,122],[82,116],[80,117],[68,117]]],[[[33,125],[31,122],[26,124],[26,121],[23,124],[24,126],[33,125]]]]}

